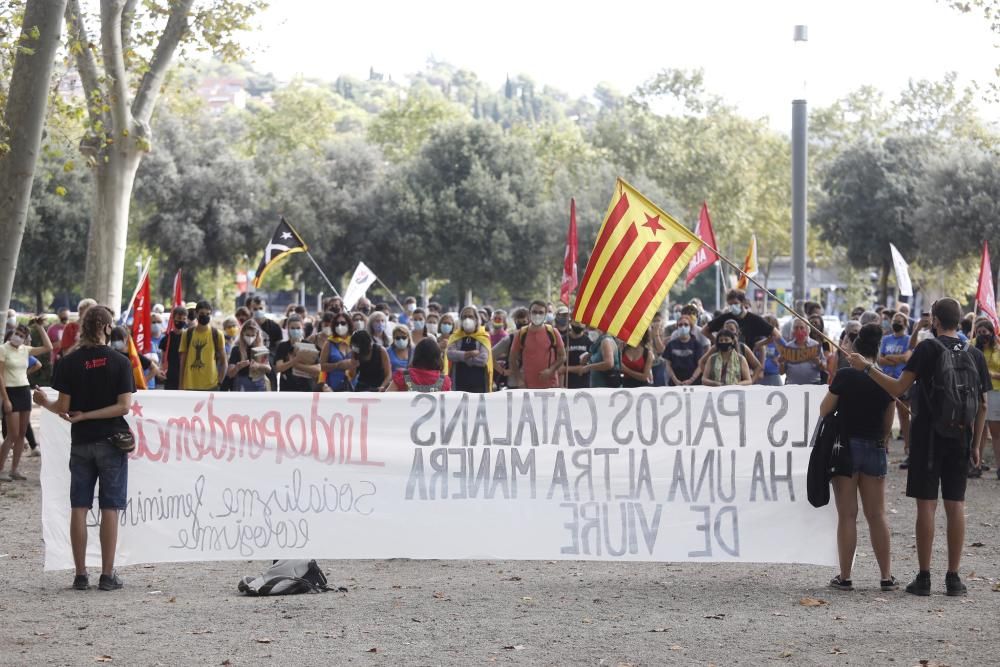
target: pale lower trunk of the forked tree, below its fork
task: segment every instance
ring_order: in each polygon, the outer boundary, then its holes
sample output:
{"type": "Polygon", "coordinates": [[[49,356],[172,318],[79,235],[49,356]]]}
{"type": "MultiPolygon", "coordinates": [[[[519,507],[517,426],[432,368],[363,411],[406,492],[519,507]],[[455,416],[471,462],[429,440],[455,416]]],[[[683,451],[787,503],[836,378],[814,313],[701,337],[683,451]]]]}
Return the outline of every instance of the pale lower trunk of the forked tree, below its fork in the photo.
{"type": "Polygon", "coordinates": [[[83,293],[119,313],[132,185],[143,154],[132,142],[122,142],[122,148],[107,155],[108,161],[98,161],[94,168],[93,212],[83,293]]]}

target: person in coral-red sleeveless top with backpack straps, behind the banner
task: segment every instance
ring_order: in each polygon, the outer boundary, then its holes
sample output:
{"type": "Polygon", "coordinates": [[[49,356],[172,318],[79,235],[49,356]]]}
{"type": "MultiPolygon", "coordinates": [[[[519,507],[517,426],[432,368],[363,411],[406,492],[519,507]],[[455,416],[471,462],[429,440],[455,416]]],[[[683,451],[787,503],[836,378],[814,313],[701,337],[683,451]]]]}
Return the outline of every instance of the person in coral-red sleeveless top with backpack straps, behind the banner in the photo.
{"type": "Polygon", "coordinates": [[[510,346],[509,367],[523,389],[551,389],[559,386],[559,369],[566,363],[562,336],[545,322],[546,305],[532,301],[526,327],[517,330],[510,346]]]}

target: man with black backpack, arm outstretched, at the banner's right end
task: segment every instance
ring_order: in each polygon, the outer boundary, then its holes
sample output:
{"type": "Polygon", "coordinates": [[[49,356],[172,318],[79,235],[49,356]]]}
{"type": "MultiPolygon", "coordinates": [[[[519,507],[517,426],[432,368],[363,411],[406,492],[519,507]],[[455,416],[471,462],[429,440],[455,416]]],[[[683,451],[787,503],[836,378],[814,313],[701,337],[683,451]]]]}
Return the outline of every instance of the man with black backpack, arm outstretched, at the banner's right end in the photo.
{"type": "Polygon", "coordinates": [[[910,466],[906,495],[917,502],[917,561],[920,571],[906,587],[913,595],[931,594],[931,551],[938,495],[944,499],[948,525],[945,592],[965,595],[958,569],[965,546],[965,487],[968,463],[979,465],[980,435],[986,420],[989,369],[983,353],[958,337],[962,308],[955,299],[931,306],[935,338],[913,350],[899,378],[892,378],[863,355],[851,354],[851,366],[863,371],[891,396],[901,396],[916,382],[910,429],[910,466]]]}

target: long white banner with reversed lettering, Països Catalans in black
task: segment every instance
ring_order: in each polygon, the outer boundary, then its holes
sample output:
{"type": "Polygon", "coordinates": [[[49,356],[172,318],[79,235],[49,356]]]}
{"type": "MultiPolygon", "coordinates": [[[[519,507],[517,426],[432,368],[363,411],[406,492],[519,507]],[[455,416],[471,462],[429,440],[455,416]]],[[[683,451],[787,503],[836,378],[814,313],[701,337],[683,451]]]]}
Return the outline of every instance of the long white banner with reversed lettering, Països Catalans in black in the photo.
{"type": "MultiPolygon", "coordinates": [[[[139,392],[119,565],[270,558],[836,563],[806,500],[824,387],[139,392]]],[[[45,413],[45,568],[69,424],[45,413]]],[[[98,564],[91,514],[88,562],[98,564]]]]}

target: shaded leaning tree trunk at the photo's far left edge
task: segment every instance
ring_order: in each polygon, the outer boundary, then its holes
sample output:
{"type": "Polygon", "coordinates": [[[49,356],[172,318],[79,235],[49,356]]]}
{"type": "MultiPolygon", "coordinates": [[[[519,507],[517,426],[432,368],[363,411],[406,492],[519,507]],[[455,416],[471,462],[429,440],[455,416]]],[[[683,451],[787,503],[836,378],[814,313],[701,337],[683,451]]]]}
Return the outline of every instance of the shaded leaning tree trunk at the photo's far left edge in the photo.
{"type": "Polygon", "coordinates": [[[0,312],[10,307],[65,7],[66,0],[28,0],[21,24],[20,44],[32,52],[18,51],[14,58],[4,109],[10,150],[0,159],[0,312]],[[37,39],[31,36],[36,28],[37,39]]]}

